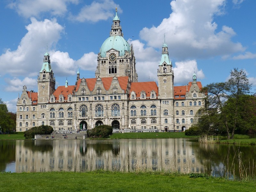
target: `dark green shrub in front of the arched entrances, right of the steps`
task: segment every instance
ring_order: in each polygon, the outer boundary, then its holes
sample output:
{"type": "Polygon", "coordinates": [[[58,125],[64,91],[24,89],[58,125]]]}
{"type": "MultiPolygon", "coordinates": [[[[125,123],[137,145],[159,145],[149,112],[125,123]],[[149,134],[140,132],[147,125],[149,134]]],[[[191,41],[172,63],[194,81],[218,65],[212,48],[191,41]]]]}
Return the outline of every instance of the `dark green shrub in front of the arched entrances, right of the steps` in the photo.
{"type": "Polygon", "coordinates": [[[113,132],[110,125],[99,125],[91,130],[87,130],[88,137],[107,138],[113,132]]]}

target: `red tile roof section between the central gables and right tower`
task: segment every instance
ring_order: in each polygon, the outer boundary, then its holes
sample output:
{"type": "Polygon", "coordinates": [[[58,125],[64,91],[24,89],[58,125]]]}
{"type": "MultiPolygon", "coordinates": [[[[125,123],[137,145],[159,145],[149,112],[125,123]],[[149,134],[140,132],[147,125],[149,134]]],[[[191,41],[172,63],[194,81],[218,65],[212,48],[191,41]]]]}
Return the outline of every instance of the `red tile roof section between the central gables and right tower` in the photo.
{"type": "Polygon", "coordinates": [[[130,93],[134,91],[136,93],[136,97],[140,97],[140,92],[145,91],[146,97],[150,97],[150,92],[153,90],[156,92],[156,97],[158,97],[158,87],[154,81],[134,82],[131,84],[130,93]]]}

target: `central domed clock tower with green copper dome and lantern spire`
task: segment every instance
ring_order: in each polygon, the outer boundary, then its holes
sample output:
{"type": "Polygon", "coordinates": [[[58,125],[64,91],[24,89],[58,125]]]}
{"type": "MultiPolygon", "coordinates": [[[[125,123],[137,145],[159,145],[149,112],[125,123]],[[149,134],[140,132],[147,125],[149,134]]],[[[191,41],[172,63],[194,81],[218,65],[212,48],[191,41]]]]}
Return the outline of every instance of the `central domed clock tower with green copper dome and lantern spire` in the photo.
{"type": "Polygon", "coordinates": [[[117,8],[116,15],[113,17],[110,36],[101,45],[97,61],[96,78],[129,76],[132,82],[138,80],[132,45],[130,46],[124,39],[117,8]]]}

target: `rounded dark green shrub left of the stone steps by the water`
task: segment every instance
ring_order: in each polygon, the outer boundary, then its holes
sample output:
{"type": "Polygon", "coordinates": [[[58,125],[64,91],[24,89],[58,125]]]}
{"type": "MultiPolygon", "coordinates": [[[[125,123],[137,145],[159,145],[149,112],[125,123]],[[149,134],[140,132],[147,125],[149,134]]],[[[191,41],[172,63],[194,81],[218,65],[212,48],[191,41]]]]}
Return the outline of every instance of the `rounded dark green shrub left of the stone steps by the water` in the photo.
{"type": "Polygon", "coordinates": [[[53,132],[53,128],[49,125],[41,125],[37,127],[32,127],[28,131],[24,132],[24,137],[26,139],[35,138],[35,135],[49,135],[53,132]]]}

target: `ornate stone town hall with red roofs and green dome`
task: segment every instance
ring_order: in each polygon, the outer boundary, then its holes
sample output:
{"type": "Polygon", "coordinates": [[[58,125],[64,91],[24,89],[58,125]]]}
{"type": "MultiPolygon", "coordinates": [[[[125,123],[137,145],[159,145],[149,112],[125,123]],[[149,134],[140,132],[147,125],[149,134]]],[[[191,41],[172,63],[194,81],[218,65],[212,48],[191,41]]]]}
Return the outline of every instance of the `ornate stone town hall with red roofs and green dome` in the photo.
{"type": "Polygon", "coordinates": [[[75,85],[58,86],[50,55],[44,54],[37,78],[38,92],[23,91],[17,101],[16,131],[51,125],[55,131],[92,129],[100,124],[128,132],[184,131],[204,105],[201,82],[173,86],[174,73],[168,47],[162,46],[156,82],[138,82],[132,45],[123,37],[119,16],[113,18],[110,36],[97,58],[95,78],[81,78],[75,85]]]}

